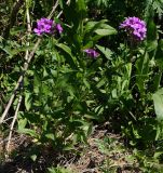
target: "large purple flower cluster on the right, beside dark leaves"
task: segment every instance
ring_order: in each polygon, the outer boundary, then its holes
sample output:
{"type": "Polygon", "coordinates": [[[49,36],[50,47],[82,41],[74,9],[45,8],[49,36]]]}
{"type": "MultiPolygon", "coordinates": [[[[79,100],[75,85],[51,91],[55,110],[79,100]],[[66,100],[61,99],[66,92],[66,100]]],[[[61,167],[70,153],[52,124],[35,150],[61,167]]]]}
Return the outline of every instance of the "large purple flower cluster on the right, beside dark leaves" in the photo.
{"type": "Polygon", "coordinates": [[[127,17],[120,25],[120,28],[124,28],[125,31],[137,41],[141,41],[146,38],[146,23],[138,17],[127,17]]]}

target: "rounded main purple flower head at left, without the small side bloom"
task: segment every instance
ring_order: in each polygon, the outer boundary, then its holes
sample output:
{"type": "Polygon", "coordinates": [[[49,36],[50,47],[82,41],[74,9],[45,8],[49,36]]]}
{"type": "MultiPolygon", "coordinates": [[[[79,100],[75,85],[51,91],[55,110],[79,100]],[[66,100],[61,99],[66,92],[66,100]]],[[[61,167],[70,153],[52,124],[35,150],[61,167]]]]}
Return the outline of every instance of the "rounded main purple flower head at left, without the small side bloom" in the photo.
{"type": "Polygon", "coordinates": [[[33,31],[41,36],[43,34],[52,34],[53,32],[54,21],[49,18],[41,18],[37,22],[37,28],[33,31]]]}

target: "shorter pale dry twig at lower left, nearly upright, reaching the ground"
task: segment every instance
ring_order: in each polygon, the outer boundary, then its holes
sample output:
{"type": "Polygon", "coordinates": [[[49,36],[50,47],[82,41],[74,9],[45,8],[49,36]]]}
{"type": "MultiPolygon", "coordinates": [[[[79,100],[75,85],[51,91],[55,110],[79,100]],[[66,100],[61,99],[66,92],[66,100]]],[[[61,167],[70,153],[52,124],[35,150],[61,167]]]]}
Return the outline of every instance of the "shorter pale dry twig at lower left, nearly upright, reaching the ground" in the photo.
{"type": "Polygon", "coordinates": [[[15,121],[16,121],[16,119],[17,119],[17,115],[18,115],[18,110],[19,110],[19,107],[21,107],[22,98],[23,98],[23,96],[19,95],[18,103],[17,103],[17,107],[16,107],[16,111],[15,111],[13,121],[12,121],[11,127],[10,127],[9,141],[8,141],[8,144],[6,144],[6,151],[8,151],[8,152],[10,151],[11,137],[12,137],[12,133],[13,133],[13,129],[14,129],[15,121]]]}

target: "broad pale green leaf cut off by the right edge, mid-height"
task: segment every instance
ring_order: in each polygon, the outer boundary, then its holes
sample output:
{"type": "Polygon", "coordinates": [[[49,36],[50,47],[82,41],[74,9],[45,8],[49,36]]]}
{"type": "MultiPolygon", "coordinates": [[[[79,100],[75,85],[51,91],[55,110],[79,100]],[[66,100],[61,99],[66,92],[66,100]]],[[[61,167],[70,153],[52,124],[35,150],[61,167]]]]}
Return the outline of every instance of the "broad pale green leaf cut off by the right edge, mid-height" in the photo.
{"type": "Polygon", "coordinates": [[[153,96],[154,110],[158,120],[163,120],[163,89],[157,91],[153,96]]]}

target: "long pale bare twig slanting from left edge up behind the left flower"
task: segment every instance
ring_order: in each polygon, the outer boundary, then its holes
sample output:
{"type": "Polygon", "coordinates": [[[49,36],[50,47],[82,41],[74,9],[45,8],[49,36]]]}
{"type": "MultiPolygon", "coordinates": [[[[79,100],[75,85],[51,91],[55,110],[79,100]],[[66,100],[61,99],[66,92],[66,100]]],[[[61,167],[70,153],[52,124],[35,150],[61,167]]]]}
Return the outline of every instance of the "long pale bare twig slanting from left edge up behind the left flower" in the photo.
{"type": "MultiPolygon", "coordinates": [[[[56,10],[57,6],[58,6],[58,0],[56,1],[55,5],[54,5],[53,9],[52,9],[52,12],[51,12],[50,15],[47,16],[49,18],[52,17],[52,15],[53,15],[53,13],[54,13],[54,11],[56,10]]],[[[8,112],[9,112],[9,109],[10,109],[10,107],[11,107],[13,101],[14,101],[14,97],[15,97],[15,95],[16,95],[16,93],[17,93],[17,90],[18,90],[19,85],[21,85],[22,82],[23,82],[24,75],[25,75],[25,72],[26,72],[27,69],[28,69],[29,63],[30,63],[31,58],[33,57],[33,54],[35,54],[37,48],[39,46],[40,42],[41,42],[41,38],[38,39],[37,43],[35,44],[35,46],[33,46],[33,49],[32,49],[32,52],[29,54],[29,56],[28,56],[28,57],[25,57],[27,61],[26,61],[26,63],[25,63],[25,65],[24,65],[24,71],[23,71],[23,74],[21,75],[21,77],[19,77],[19,79],[18,79],[18,81],[17,81],[17,83],[16,83],[16,85],[15,85],[14,92],[13,92],[13,94],[11,95],[11,97],[10,97],[10,99],[9,99],[9,103],[8,103],[8,105],[6,105],[5,109],[4,109],[4,112],[2,114],[2,116],[1,116],[1,118],[0,118],[0,124],[3,122],[4,118],[6,117],[6,115],[8,115],[8,112]]],[[[26,54],[25,56],[27,56],[27,54],[26,54]]]]}

